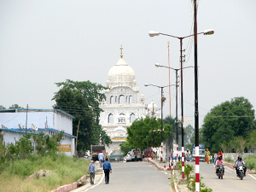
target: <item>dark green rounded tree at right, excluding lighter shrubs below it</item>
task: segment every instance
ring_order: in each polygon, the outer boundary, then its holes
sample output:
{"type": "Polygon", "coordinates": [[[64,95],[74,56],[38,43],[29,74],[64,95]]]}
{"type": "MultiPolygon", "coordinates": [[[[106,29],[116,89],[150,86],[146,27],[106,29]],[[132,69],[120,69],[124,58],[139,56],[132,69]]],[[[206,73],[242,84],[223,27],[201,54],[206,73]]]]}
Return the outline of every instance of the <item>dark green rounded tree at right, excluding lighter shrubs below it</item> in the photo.
{"type": "Polygon", "coordinates": [[[202,125],[203,141],[212,152],[235,137],[247,137],[253,130],[253,105],[244,97],[235,97],[211,109],[202,125]]]}

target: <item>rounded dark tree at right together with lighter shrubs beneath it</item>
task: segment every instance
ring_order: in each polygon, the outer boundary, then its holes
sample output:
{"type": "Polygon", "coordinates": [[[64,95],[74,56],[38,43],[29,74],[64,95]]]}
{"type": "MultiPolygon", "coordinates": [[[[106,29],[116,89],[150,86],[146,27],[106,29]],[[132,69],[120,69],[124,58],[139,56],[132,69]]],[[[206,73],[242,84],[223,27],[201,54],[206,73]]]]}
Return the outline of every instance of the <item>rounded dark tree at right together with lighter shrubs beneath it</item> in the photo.
{"type": "Polygon", "coordinates": [[[235,97],[211,109],[201,128],[202,143],[212,152],[242,153],[256,147],[256,121],[253,105],[235,97]]]}

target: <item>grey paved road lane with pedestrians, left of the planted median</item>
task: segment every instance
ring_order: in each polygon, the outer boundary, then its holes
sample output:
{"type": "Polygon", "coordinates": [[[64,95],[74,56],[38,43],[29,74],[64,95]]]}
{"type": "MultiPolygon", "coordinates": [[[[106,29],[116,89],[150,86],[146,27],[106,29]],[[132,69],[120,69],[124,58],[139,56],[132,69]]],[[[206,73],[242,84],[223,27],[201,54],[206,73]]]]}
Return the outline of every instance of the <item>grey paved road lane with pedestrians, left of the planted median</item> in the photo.
{"type": "Polygon", "coordinates": [[[170,172],[159,171],[146,161],[139,162],[112,162],[109,184],[104,182],[104,174],[98,175],[95,185],[86,184],[75,192],[99,191],[172,191],[170,172]]]}

